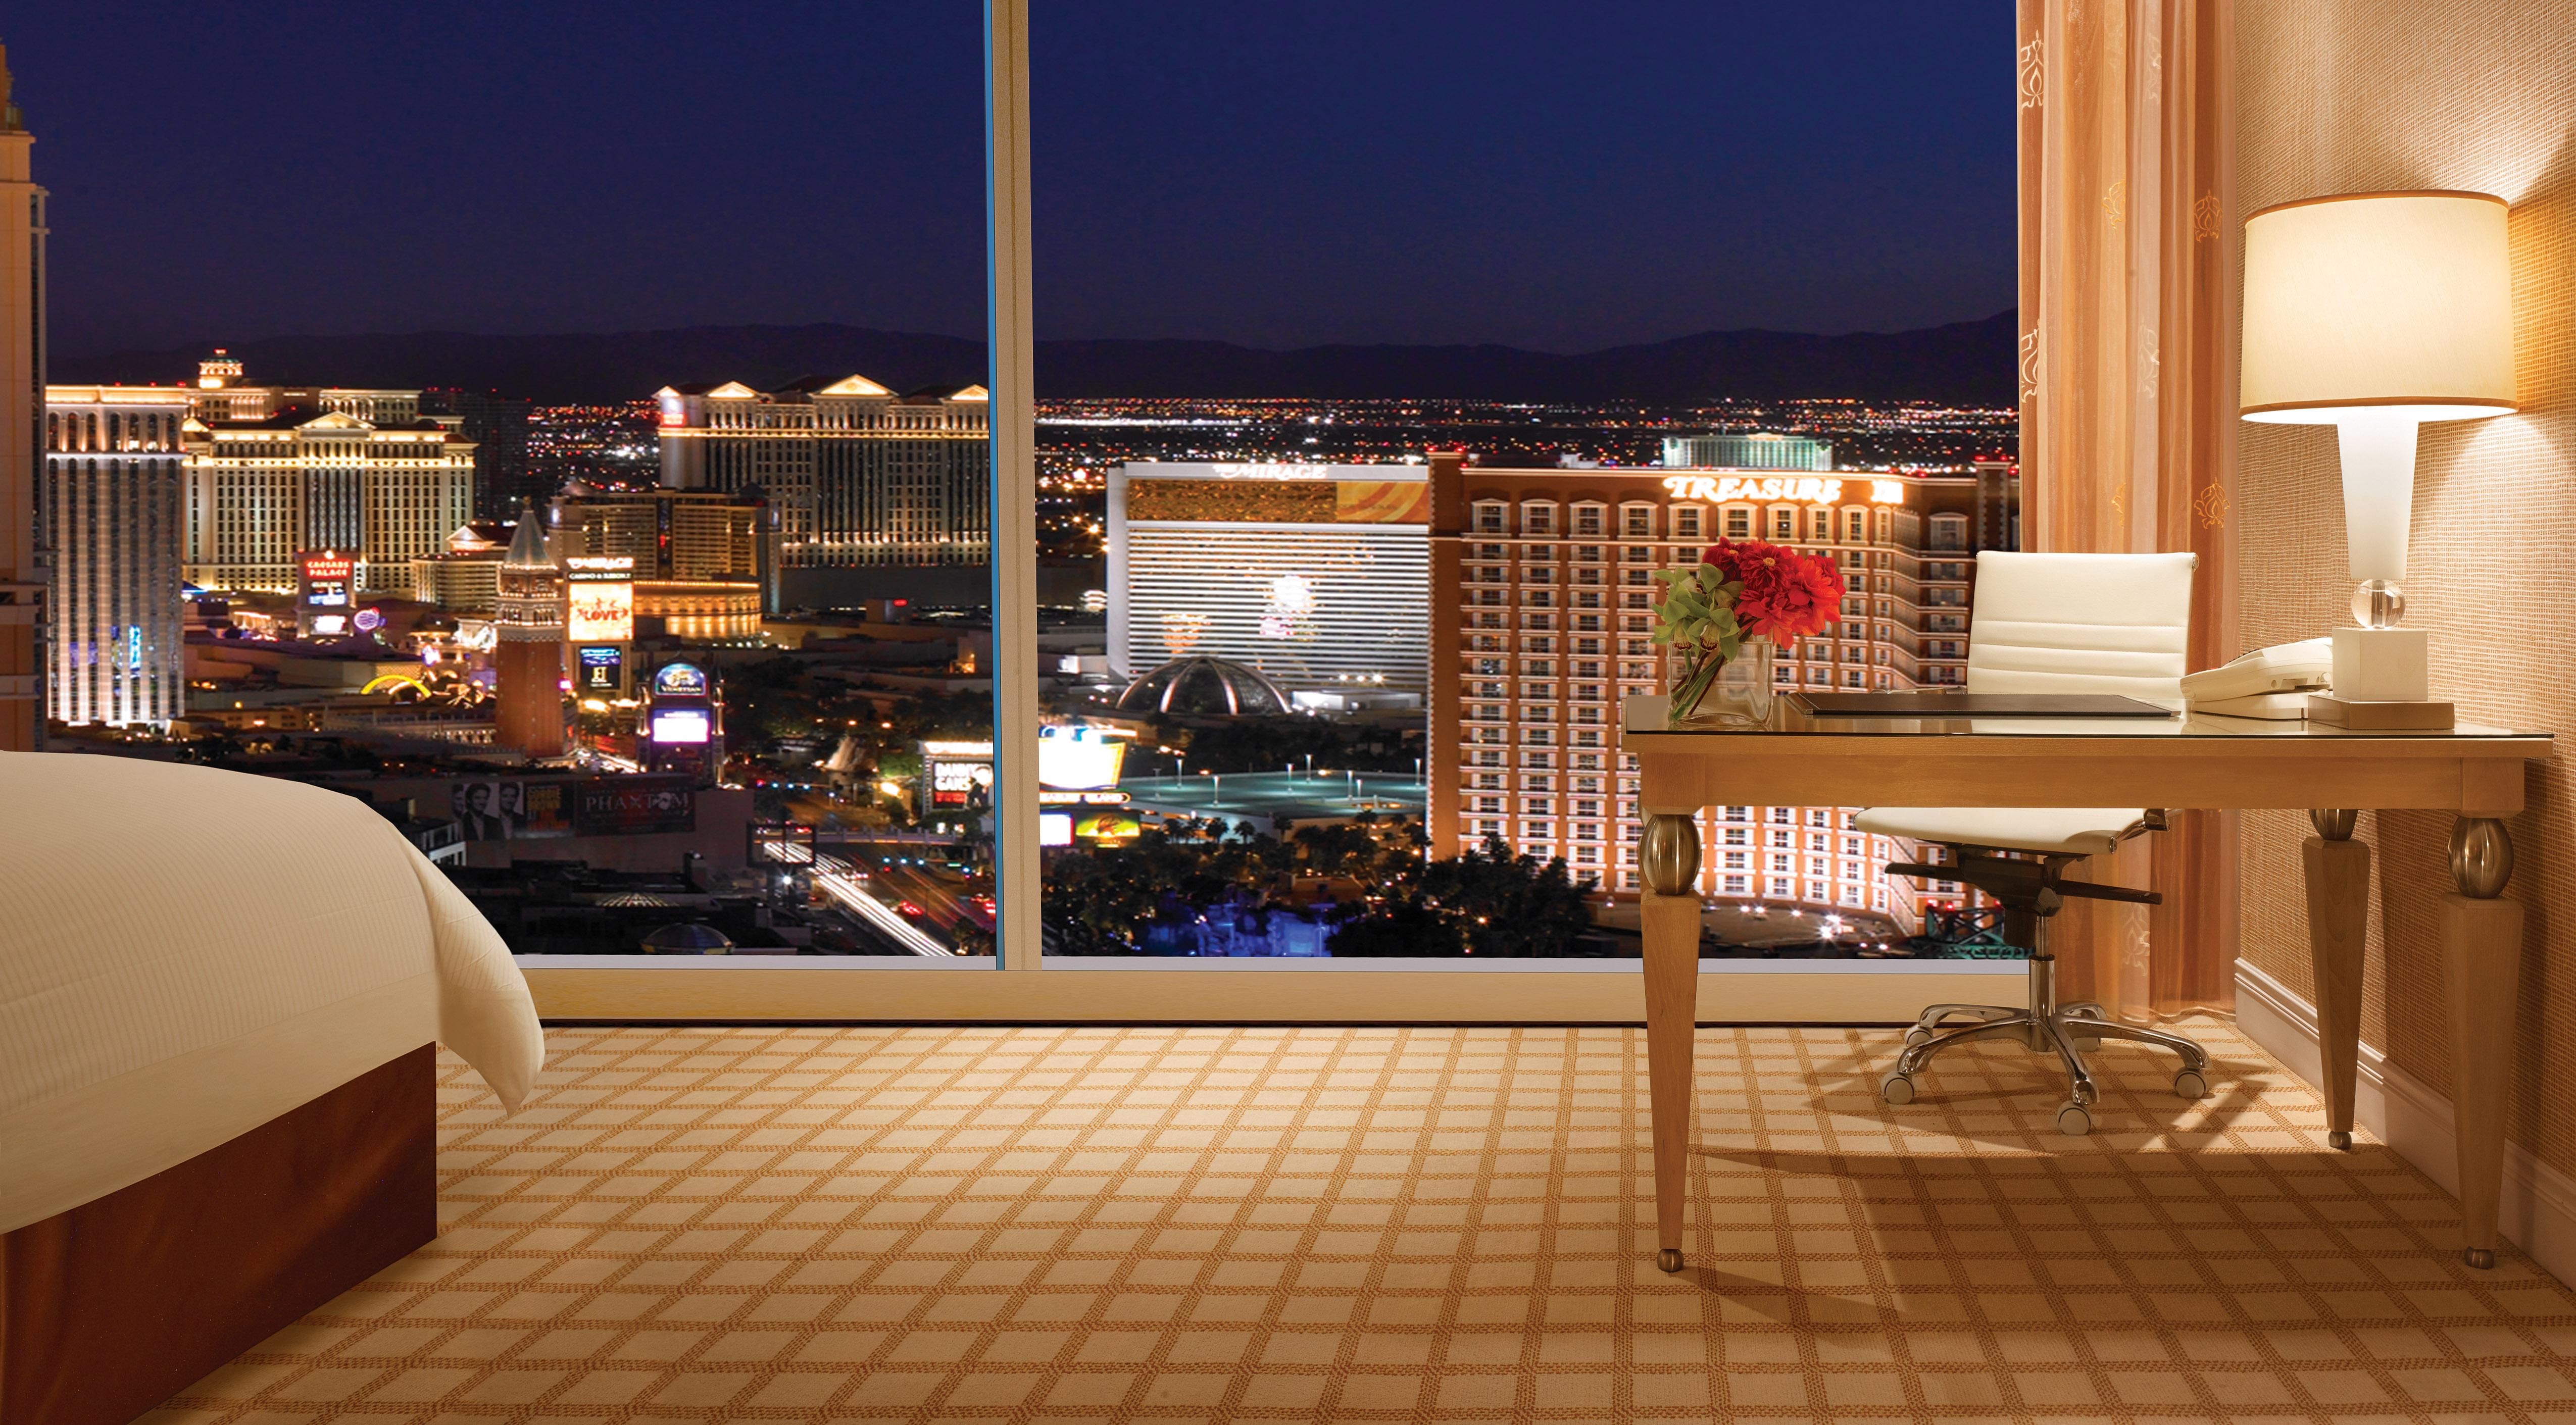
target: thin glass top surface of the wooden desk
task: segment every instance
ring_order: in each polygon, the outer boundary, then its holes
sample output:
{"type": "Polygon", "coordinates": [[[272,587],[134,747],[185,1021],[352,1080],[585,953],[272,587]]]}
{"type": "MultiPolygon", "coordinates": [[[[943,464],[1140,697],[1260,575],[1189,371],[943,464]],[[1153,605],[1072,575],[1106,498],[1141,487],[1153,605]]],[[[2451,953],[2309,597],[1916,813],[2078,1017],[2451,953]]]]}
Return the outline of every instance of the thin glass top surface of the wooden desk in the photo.
{"type": "Polygon", "coordinates": [[[2530,755],[2545,755],[2548,732],[2514,732],[2460,722],[2429,732],[2352,732],[2331,722],[2269,722],[2254,716],[2195,714],[2174,698],[2146,698],[2174,709],[2172,716],[1816,716],[1798,706],[1793,691],[1772,698],[1770,722],[1759,727],[1690,724],[1664,727],[1667,701],[1646,693],[1620,701],[1623,737],[2223,737],[2223,740],[2360,740],[2360,742],[2530,742],[2530,755]]]}

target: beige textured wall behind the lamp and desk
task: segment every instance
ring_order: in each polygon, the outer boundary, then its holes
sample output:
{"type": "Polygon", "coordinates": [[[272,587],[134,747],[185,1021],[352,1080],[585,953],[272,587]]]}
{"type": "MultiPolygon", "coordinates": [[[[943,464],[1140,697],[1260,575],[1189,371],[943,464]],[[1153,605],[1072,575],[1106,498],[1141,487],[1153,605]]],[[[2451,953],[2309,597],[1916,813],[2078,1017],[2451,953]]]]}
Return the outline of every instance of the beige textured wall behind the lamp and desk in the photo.
{"type": "MultiPolygon", "coordinates": [[[[2406,624],[2463,719],[2576,732],[2576,5],[2241,0],[2239,211],[2324,193],[2473,188],[2514,204],[2522,415],[2427,425],[2406,624]]],[[[2331,430],[2246,425],[2236,518],[2244,647],[2349,624],[2331,430]]],[[[2512,819],[2530,902],[2509,1134],[2576,1172],[2576,794],[2530,770],[2512,819]]],[[[2295,812],[2246,812],[2244,959],[2311,995],[2295,812]]],[[[2378,848],[2362,1038],[2450,1093],[2434,953],[2450,814],[2362,817],[2378,848]]]]}

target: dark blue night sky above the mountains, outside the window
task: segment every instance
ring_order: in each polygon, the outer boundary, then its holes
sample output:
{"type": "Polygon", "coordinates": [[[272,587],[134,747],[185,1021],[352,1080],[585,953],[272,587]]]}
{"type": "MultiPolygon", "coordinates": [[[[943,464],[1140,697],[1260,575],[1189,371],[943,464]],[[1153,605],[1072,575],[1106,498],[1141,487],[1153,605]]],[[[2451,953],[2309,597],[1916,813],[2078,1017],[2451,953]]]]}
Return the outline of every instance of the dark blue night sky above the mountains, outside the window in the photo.
{"type": "MultiPolygon", "coordinates": [[[[1584,350],[2012,304],[2009,0],[1036,0],[1041,335],[1584,350]]],[[[59,353],[981,330],[958,0],[28,5],[59,353]]]]}

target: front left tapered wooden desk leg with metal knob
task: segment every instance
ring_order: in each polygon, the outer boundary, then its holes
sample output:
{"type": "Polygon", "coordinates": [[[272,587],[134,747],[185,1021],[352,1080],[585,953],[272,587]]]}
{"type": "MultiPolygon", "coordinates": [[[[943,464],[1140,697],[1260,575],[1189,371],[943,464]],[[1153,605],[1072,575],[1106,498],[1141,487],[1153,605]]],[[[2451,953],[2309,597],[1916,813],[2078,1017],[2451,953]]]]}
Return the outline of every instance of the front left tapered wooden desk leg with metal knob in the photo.
{"type": "Polygon", "coordinates": [[[1690,1057],[1700,1010],[1700,827],[1687,814],[1649,814],[1638,861],[1646,941],[1646,1105],[1654,1139],[1654,1265],[1682,1270],[1690,1219],[1690,1057]]]}

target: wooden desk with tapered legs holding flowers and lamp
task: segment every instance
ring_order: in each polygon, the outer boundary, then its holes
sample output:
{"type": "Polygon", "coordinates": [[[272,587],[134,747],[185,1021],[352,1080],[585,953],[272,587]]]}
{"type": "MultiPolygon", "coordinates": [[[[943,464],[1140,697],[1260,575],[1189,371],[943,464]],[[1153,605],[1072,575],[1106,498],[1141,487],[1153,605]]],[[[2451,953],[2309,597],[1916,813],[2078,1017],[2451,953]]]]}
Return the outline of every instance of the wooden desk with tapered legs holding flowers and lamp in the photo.
{"type": "Polygon", "coordinates": [[[2522,904],[2504,817],[2522,812],[2524,763],[2545,732],[2460,724],[2372,734],[2236,716],[2148,719],[1816,719],[1783,696],[1767,727],[1664,727],[1664,698],[1628,698],[1620,745],[1638,760],[1646,879],[1646,1075],[1654,1113],[1656,1265],[1682,1268],[1690,1051],[1700,977],[1703,807],[2166,807],[2306,809],[2308,948],[2326,1062],[2329,1142],[2352,1147],[2362,1028],[2370,848],[2360,807],[2455,812],[2442,894],[2452,1111],[2468,1265],[2494,1265],[2512,1087],[2522,904]]]}

